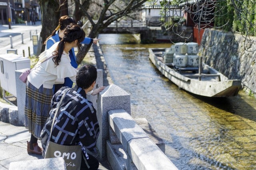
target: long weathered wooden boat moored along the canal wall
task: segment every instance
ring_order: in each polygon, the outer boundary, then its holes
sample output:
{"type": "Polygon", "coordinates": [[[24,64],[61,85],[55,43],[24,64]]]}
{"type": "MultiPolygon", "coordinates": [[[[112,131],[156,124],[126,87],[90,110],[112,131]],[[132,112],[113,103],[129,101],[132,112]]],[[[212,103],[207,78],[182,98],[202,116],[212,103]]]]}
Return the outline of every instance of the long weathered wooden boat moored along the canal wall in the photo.
{"type": "Polygon", "coordinates": [[[241,87],[240,80],[229,80],[226,76],[202,64],[202,73],[198,67],[176,68],[173,63],[164,63],[162,53],[164,48],[149,49],[149,58],[164,76],[178,87],[207,97],[236,96],[241,87]]]}

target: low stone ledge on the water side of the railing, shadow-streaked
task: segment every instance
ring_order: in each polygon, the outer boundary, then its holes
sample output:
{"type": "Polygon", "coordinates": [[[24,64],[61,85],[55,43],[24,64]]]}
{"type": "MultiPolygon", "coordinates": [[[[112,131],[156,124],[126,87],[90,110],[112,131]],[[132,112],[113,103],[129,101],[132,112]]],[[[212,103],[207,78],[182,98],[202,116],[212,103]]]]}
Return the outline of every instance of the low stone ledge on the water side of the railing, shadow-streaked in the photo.
{"type": "Polygon", "coordinates": [[[146,118],[135,118],[136,123],[146,132],[148,137],[165,153],[165,143],[156,133],[146,118]]]}

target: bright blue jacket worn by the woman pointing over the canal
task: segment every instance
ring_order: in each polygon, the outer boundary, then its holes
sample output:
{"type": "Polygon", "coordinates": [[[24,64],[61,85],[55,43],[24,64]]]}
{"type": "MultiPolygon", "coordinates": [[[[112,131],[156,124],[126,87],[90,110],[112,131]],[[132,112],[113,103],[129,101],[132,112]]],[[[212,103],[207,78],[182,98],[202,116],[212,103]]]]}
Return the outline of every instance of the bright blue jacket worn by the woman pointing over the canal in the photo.
{"type": "MultiPolygon", "coordinates": [[[[59,31],[56,31],[56,34],[52,37],[50,37],[47,42],[46,42],[46,49],[49,49],[50,47],[52,47],[52,45],[54,45],[54,43],[60,41],[60,37],[59,37],[59,34],[58,34],[59,31]],[[55,41],[55,42],[54,42],[55,41]]],[[[89,37],[85,37],[84,38],[84,41],[82,41],[81,43],[82,44],[90,44],[92,43],[93,39],[89,38],[89,37]]],[[[70,51],[69,51],[69,57],[70,57],[70,60],[71,60],[71,65],[74,67],[74,68],[77,68],[78,64],[76,63],[76,55],[75,55],[75,51],[74,51],[74,48],[72,48],[70,51]]],[[[70,78],[65,78],[65,82],[63,84],[63,86],[68,86],[70,88],[72,88],[72,85],[73,85],[73,82],[72,80],[70,80],[70,78]]]]}

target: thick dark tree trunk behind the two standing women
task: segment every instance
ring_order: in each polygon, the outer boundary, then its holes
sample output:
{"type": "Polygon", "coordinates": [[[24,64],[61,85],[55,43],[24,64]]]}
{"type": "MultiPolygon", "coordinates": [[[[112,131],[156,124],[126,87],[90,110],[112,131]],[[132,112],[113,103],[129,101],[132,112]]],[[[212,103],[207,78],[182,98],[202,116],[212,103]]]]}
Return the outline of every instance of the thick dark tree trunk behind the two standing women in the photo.
{"type": "MultiPolygon", "coordinates": [[[[39,4],[42,12],[42,31],[40,37],[42,38],[42,43],[44,43],[46,38],[57,27],[60,11],[58,11],[59,4],[56,0],[40,0],[39,4]]],[[[45,45],[42,45],[41,53],[44,49],[45,45]]]]}

